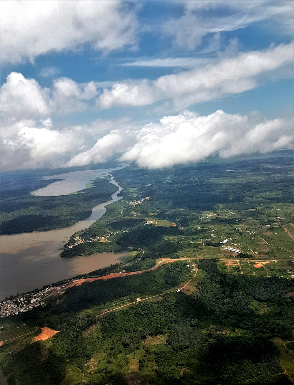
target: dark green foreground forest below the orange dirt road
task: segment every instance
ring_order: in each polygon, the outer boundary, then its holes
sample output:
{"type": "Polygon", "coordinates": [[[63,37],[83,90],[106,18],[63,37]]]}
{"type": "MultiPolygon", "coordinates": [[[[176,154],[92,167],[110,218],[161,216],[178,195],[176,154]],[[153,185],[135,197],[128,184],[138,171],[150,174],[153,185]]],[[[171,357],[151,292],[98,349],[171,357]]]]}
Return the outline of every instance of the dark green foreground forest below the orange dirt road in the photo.
{"type": "MultiPolygon", "coordinates": [[[[3,346],[8,384],[290,384],[273,338],[293,339],[293,280],[222,274],[203,259],[191,295],[168,291],[185,281],[182,262],[156,272],[95,281],[67,291],[62,303],[15,317],[60,330],[52,341],[3,346]],[[96,318],[119,299],[163,293],[96,318]],[[109,302],[110,301],[110,302],[109,302]],[[269,311],[259,313],[257,301],[269,311]],[[59,315],[59,316],[57,316],[59,315]],[[13,368],[13,373],[11,368],[13,368]]],[[[294,357],[289,353],[289,362],[294,357]]]]}

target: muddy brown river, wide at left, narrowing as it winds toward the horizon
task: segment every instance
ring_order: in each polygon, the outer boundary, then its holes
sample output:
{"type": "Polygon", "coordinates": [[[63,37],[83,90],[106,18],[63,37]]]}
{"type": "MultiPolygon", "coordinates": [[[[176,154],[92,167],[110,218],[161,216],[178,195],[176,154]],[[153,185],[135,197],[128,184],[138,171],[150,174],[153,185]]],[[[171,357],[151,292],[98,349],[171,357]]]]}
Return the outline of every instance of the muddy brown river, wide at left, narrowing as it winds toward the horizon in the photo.
{"type": "MultiPolygon", "coordinates": [[[[101,175],[102,172],[109,174],[109,169],[99,171],[101,175]]],[[[112,200],[98,204],[92,209],[92,214],[88,218],[73,226],[0,236],[0,300],[109,266],[126,257],[128,252],[100,253],[76,258],[60,258],[59,255],[62,241],[67,241],[74,232],[89,227],[105,213],[105,206],[121,199],[118,193],[122,187],[114,181],[113,177],[109,183],[119,187],[118,191],[112,194],[112,200]]],[[[44,189],[42,193],[45,194],[44,189]]]]}

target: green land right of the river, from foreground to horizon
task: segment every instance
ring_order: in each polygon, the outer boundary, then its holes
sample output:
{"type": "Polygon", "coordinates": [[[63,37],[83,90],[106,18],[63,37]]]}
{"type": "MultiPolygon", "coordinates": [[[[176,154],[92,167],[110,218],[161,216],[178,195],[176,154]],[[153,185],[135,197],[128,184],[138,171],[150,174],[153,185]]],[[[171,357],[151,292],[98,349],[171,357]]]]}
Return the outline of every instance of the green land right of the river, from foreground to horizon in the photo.
{"type": "MultiPolygon", "coordinates": [[[[2,318],[7,383],[293,383],[292,166],[285,151],[113,171],[123,198],[60,255],[128,256],[49,285],[44,305],[2,318]]],[[[52,197],[56,210],[72,197],[91,206],[116,188],[93,185],[52,197]]],[[[22,194],[24,210],[40,198],[22,194]]]]}

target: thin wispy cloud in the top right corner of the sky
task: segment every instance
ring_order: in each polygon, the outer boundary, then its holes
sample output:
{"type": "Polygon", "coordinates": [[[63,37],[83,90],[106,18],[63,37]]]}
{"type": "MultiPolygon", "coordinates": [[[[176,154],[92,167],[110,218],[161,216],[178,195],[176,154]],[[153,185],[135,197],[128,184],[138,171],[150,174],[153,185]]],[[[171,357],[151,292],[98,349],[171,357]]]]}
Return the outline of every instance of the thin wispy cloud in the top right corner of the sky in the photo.
{"type": "Polygon", "coordinates": [[[163,26],[165,35],[173,44],[193,50],[208,34],[234,31],[265,19],[271,20],[271,28],[289,36],[293,33],[293,2],[282,0],[199,0],[186,1],[183,15],[171,18],[163,26]],[[210,11],[210,13],[208,13],[210,11]],[[274,23],[273,23],[274,22],[274,23]]]}

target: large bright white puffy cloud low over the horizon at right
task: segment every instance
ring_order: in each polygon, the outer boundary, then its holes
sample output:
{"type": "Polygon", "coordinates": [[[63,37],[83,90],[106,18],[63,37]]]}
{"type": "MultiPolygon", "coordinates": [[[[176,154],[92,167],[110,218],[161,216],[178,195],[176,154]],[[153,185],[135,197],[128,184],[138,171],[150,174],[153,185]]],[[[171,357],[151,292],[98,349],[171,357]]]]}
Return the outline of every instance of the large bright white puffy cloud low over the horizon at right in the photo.
{"type": "Polygon", "coordinates": [[[230,157],[291,148],[293,121],[250,124],[247,116],[218,110],[208,116],[186,111],[163,117],[136,132],[137,142],[120,158],[150,169],[190,163],[208,156],[230,157]]]}

